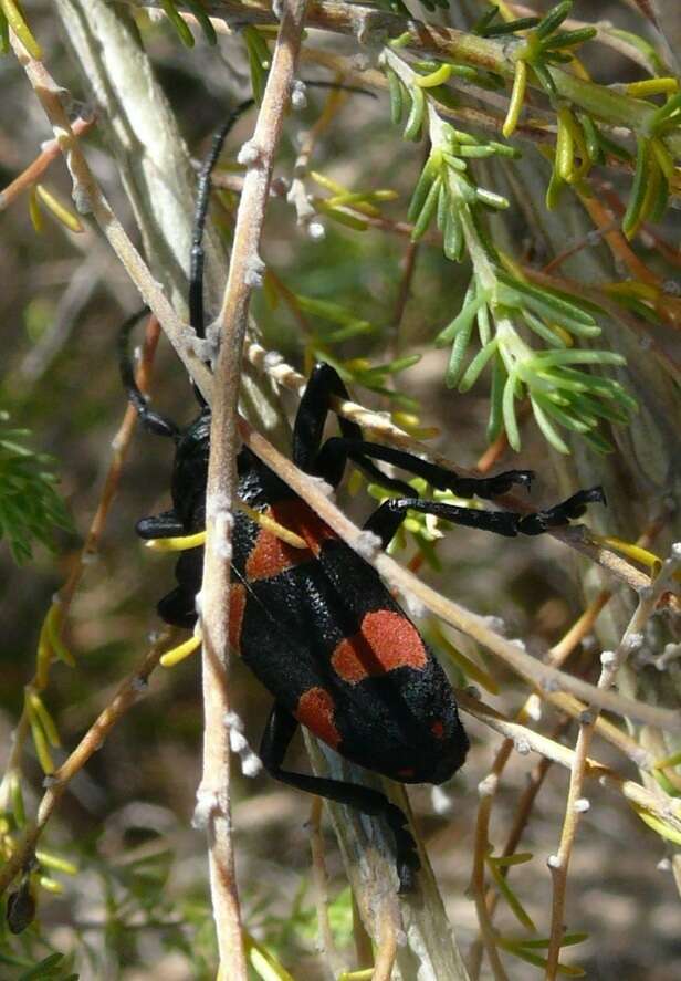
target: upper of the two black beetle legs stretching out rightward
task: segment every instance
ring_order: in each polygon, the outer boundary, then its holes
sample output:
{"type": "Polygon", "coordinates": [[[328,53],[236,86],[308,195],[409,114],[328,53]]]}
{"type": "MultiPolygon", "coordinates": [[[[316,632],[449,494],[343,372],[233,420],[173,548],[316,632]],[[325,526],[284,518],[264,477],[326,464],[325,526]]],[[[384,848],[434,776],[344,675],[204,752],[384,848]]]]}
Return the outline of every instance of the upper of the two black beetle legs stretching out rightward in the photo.
{"type": "MultiPolygon", "coordinates": [[[[364,439],[344,439],[337,436],[332,436],[322,447],[318,455],[318,466],[321,469],[328,466],[344,467],[345,461],[349,459],[363,470],[368,471],[371,467],[367,460],[368,457],[408,470],[417,477],[422,477],[438,490],[451,490],[461,498],[472,498],[473,494],[485,499],[496,498],[500,494],[505,494],[513,484],[522,484],[530,489],[534,477],[532,470],[506,470],[495,477],[459,477],[452,470],[446,470],[444,467],[422,460],[413,453],[407,453],[395,447],[368,442],[364,439]],[[343,462],[338,462],[339,460],[343,462]]],[[[373,472],[376,473],[376,471],[377,468],[373,468],[373,472]]],[[[406,491],[410,497],[413,495],[413,488],[409,484],[385,477],[380,471],[378,473],[384,487],[406,491]]]]}

